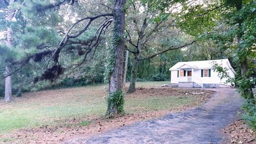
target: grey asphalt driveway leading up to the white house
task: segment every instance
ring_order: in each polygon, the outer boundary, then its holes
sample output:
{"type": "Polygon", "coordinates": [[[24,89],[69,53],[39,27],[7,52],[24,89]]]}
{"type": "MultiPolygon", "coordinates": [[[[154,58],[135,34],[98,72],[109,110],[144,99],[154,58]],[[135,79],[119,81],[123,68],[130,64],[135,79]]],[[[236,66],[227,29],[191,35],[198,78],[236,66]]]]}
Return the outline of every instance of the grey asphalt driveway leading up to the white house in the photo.
{"type": "Polygon", "coordinates": [[[242,100],[235,89],[217,91],[199,108],[79,139],[77,143],[221,143],[223,127],[235,121],[242,100]]]}

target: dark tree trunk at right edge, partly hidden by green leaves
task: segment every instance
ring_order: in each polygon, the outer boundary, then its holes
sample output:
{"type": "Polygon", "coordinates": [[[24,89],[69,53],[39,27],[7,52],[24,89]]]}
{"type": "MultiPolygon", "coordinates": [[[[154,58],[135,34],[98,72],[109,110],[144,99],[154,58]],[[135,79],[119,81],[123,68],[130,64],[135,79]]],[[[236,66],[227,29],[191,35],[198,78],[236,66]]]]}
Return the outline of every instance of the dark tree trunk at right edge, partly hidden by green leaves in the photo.
{"type": "MultiPolygon", "coordinates": [[[[243,0],[238,0],[236,2],[236,10],[239,11],[241,10],[243,7],[243,0]]],[[[238,49],[240,51],[243,51],[243,47],[240,45],[241,39],[242,39],[242,35],[243,35],[243,31],[241,30],[242,27],[242,19],[238,19],[238,28],[239,28],[239,33],[237,34],[237,43],[238,43],[238,49]]],[[[243,56],[242,56],[243,57],[243,56]]],[[[247,58],[239,58],[239,62],[240,62],[240,68],[241,68],[241,76],[243,79],[246,79],[246,71],[247,71],[247,58]]],[[[254,95],[253,95],[253,91],[252,91],[252,86],[250,87],[249,90],[247,90],[247,92],[250,94],[250,99],[252,100],[252,102],[255,104],[255,100],[254,100],[254,95]]]]}

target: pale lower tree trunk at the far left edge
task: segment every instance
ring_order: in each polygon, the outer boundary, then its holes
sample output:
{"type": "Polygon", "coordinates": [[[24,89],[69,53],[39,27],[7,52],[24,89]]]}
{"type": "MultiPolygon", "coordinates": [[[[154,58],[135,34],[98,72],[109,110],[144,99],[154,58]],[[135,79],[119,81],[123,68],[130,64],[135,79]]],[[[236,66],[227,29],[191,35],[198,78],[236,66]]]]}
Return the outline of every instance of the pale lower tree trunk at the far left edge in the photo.
{"type": "MultiPolygon", "coordinates": [[[[6,66],[5,68],[6,75],[9,75],[10,69],[6,66]]],[[[12,78],[11,76],[5,77],[5,91],[4,91],[4,100],[11,101],[12,100],[12,78]]]]}

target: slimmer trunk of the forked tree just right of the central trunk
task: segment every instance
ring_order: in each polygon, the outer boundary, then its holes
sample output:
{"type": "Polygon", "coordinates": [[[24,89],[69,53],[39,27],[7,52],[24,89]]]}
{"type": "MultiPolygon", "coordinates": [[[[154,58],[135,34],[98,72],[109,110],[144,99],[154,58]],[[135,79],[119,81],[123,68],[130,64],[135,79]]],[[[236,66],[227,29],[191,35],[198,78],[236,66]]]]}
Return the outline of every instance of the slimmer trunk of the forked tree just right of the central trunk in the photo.
{"type": "Polygon", "coordinates": [[[134,55],[134,61],[133,61],[132,71],[131,71],[130,86],[129,86],[127,93],[133,93],[136,91],[135,82],[136,82],[136,77],[137,77],[139,56],[140,56],[140,53],[139,53],[139,51],[137,51],[134,55]]]}

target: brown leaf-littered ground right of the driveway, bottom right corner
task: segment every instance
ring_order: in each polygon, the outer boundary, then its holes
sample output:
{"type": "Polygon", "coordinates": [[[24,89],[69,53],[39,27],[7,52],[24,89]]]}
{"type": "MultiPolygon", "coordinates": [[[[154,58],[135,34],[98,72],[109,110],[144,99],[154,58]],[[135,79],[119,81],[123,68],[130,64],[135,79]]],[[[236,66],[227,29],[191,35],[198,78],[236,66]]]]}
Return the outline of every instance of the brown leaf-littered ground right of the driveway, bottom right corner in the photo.
{"type": "Polygon", "coordinates": [[[230,124],[223,131],[229,138],[225,143],[256,143],[256,132],[241,119],[230,124]]]}

